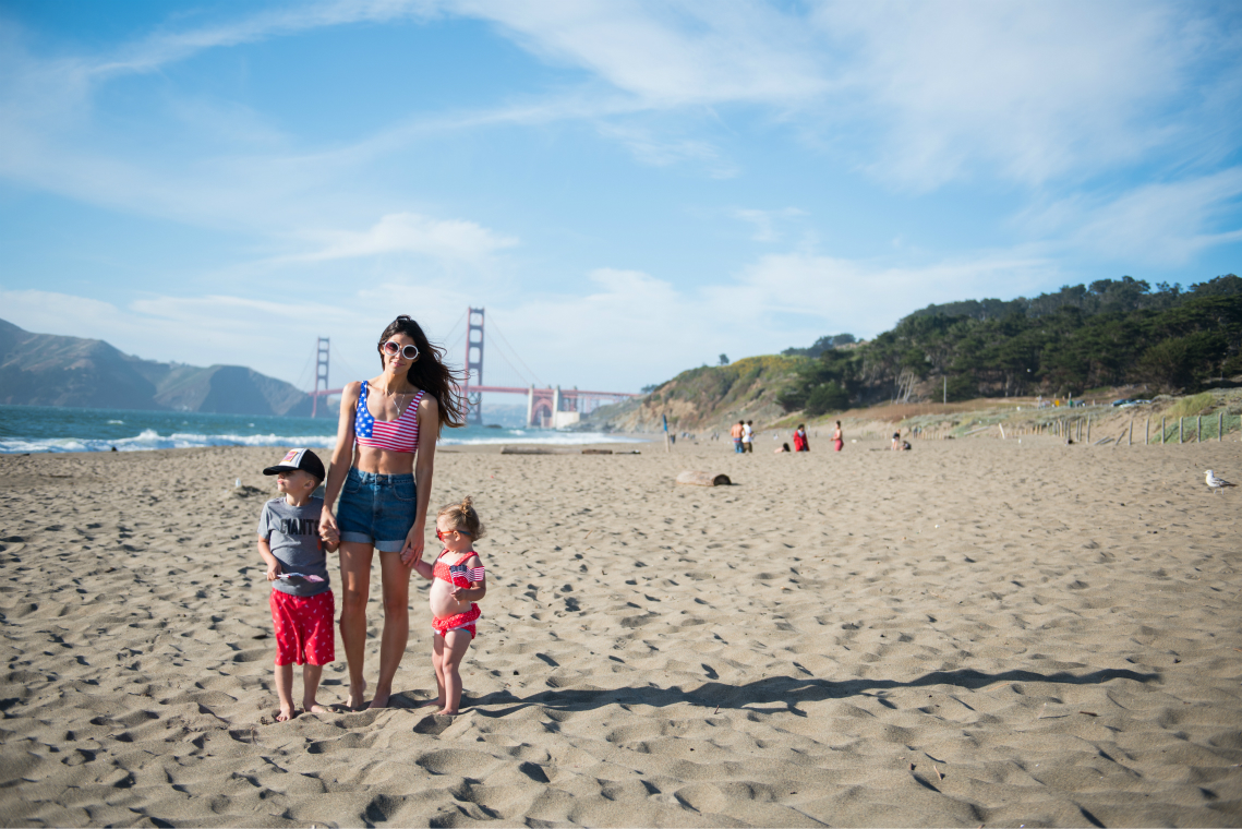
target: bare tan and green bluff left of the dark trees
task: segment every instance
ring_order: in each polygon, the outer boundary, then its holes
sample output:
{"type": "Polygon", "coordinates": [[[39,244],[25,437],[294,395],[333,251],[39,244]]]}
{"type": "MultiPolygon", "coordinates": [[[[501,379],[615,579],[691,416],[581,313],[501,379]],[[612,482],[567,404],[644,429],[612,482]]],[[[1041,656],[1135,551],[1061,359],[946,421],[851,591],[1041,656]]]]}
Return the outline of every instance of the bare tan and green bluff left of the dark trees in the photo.
{"type": "Polygon", "coordinates": [[[800,357],[748,357],[730,365],[682,372],[650,394],[604,406],[582,419],[584,429],[656,431],[662,416],[671,430],[728,430],[739,419],[766,423],[782,413],[776,393],[796,377],[800,357]]]}

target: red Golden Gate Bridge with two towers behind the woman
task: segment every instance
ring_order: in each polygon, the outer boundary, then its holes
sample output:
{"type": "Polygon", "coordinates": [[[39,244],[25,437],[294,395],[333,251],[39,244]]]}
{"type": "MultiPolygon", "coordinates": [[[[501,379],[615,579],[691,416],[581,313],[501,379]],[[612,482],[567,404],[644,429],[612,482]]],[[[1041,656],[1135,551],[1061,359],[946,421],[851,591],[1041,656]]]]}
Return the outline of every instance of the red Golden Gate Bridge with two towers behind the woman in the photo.
{"type": "MultiPolygon", "coordinates": [[[[484,394],[520,394],[527,398],[528,426],[544,429],[560,429],[570,426],[579,419],[594,411],[601,405],[617,403],[627,398],[638,396],[632,392],[584,392],[581,389],[561,389],[556,387],[540,388],[530,383],[525,388],[519,385],[484,385],[483,384],[483,308],[466,309],[466,380],[461,387],[462,398],[466,400],[466,423],[483,425],[483,395],[484,394]]],[[[461,322],[458,319],[458,322],[461,322]]],[[[453,326],[456,329],[457,326],[453,326]]],[[[450,332],[452,333],[452,332],[450,332]]],[[[502,336],[503,339],[503,336],[502,336]]],[[[512,350],[512,347],[510,347],[512,350]]],[[[319,413],[319,400],[324,400],[324,410],[328,410],[329,396],[342,393],[342,389],[328,388],[328,364],[332,348],[328,337],[319,337],[315,344],[315,375],[314,390],[310,392],[310,416],[319,413]]],[[[504,359],[503,353],[501,354],[504,359]]],[[[514,353],[517,358],[517,353],[514,353]]],[[[522,362],[520,358],[517,358],[522,362]]],[[[505,359],[505,363],[509,360],[505,359]]],[[[523,363],[525,365],[525,363],[523,363]]],[[[510,368],[514,368],[509,363],[510,368]]],[[[517,372],[517,369],[514,368],[517,372]]],[[[538,379],[538,378],[535,378],[538,379]]]]}

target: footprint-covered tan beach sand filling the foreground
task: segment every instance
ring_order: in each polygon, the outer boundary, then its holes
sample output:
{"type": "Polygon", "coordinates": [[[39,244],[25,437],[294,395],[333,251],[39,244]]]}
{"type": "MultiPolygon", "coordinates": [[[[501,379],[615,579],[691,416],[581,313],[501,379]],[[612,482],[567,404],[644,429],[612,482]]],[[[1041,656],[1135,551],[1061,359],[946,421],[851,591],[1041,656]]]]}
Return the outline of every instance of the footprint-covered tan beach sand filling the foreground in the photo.
{"type": "Polygon", "coordinates": [[[289,723],[279,450],[0,457],[0,822],[1242,824],[1240,444],[774,445],[442,450],[489,528],[467,710],[414,708],[419,580],[405,707],[289,723]]]}

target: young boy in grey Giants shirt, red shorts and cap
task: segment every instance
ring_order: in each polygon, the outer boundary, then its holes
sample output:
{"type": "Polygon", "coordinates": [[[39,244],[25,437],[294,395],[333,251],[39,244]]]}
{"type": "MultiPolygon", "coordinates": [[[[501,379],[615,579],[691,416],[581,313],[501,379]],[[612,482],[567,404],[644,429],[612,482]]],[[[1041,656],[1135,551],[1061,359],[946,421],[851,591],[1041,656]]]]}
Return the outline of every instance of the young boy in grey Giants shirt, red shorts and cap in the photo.
{"type": "Polygon", "coordinates": [[[276,694],[284,722],[293,710],[293,664],[302,667],[302,707],[328,713],[315,702],[323,666],[337,659],[337,615],[324,549],[335,552],[339,539],[319,537],[323,498],[312,493],[323,482],[323,461],[309,449],[294,449],[263,475],[276,476],[282,498],[263,505],[258,518],[258,554],[272,583],[272,624],[276,626],[276,694]]]}

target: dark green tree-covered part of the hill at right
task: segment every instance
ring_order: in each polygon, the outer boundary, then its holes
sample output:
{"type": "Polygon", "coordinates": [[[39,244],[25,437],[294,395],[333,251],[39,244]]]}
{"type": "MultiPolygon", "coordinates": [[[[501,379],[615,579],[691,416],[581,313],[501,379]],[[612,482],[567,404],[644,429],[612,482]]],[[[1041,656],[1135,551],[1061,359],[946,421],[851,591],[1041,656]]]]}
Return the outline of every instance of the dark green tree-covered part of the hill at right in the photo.
{"type": "Polygon", "coordinates": [[[1242,278],[1155,291],[1130,277],[1033,300],[929,306],[857,348],[799,365],[777,395],[815,416],[882,400],[1078,395],[1143,384],[1196,392],[1242,373],[1242,278]]]}

